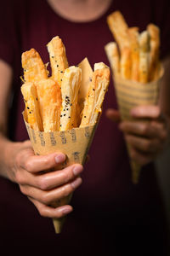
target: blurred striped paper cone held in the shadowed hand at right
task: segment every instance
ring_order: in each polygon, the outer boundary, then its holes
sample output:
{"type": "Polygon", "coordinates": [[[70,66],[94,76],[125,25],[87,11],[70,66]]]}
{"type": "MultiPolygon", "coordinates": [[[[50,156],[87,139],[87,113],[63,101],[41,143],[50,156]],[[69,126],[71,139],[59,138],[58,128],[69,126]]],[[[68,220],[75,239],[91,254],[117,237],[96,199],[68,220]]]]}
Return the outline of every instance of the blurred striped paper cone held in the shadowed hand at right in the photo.
{"type": "MultiPolygon", "coordinates": [[[[122,120],[136,120],[130,116],[130,110],[134,107],[140,105],[156,105],[158,103],[162,75],[163,69],[161,68],[159,79],[147,84],[114,76],[116,99],[122,120]]],[[[147,119],[143,120],[147,122],[147,119]]],[[[128,143],[127,151],[130,152],[130,145],[128,143]]],[[[130,160],[130,165],[132,169],[132,181],[133,183],[138,183],[141,166],[132,159],[130,160]]]]}

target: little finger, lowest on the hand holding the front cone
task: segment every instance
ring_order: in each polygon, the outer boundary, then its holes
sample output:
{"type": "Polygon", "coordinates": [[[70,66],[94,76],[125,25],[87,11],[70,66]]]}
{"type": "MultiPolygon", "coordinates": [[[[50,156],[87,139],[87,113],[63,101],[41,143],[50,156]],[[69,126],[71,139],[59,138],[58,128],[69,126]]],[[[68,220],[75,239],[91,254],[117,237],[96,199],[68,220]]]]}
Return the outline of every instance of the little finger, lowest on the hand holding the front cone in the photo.
{"type": "Polygon", "coordinates": [[[40,215],[42,215],[42,217],[62,218],[66,214],[72,212],[72,210],[73,210],[73,208],[70,205],[53,208],[53,207],[46,206],[31,197],[29,197],[29,199],[35,205],[35,207],[37,207],[37,210],[40,213],[40,215]]]}

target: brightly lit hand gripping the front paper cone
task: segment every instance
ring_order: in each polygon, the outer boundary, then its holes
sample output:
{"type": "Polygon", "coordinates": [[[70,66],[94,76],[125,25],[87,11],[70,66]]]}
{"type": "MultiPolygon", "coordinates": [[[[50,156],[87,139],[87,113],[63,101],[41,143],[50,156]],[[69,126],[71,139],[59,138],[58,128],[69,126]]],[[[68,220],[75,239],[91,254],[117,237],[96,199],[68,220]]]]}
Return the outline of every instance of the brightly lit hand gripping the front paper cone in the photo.
{"type": "Polygon", "coordinates": [[[37,207],[43,217],[61,218],[72,211],[70,205],[50,207],[70,195],[82,183],[82,166],[75,164],[58,170],[65,162],[65,154],[35,155],[31,143],[14,143],[8,164],[8,178],[20,186],[20,191],[37,207]],[[49,169],[56,170],[48,172],[49,169]],[[10,171],[9,171],[10,170],[10,171]],[[42,172],[47,171],[47,172],[42,172]]]}

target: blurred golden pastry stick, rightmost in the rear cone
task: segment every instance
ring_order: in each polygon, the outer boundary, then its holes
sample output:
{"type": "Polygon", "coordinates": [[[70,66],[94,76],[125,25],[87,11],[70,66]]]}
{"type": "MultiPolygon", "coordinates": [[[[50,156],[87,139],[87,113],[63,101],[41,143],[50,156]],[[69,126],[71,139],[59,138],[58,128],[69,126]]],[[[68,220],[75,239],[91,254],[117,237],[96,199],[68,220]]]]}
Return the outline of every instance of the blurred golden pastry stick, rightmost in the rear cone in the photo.
{"type": "Polygon", "coordinates": [[[154,80],[159,75],[159,48],[160,48],[160,29],[154,24],[147,26],[147,31],[150,34],[150,67],[149,80],[154,80]]]}

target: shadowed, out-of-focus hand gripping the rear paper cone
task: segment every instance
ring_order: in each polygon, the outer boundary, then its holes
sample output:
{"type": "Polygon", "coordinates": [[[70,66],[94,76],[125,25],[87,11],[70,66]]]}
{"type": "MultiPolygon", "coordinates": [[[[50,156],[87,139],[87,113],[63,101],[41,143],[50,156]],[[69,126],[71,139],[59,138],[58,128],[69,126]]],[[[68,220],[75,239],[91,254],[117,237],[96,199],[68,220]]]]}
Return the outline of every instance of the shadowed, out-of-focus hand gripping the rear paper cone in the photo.
{"type": "MultiPolygon", "coordinates": [[[[124,132],[126,142],[131,145],[131,158],[144,166],[154,160],[163,148],[167,139],[167,121],[161,118],[158,106],[139,106],[133,108],[130,114],[136,120],[122,121],[119,127],[124,132]]],[[[114,109],[109,109],[106,115],[120,121],[120,115],[114,109]]]]}

